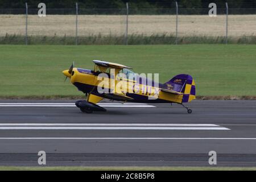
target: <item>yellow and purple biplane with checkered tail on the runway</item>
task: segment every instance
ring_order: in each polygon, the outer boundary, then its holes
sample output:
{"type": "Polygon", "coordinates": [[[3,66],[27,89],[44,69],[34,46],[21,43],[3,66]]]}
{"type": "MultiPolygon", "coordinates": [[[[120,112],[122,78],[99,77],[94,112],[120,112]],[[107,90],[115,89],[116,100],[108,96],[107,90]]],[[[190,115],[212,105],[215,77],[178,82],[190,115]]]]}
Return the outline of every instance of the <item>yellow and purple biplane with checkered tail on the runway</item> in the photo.
{"type": "Polygon", "coordinates": [[[196,98],[195,81],[190,75],[176,75],[164,84],[139,76],[132,68],[122,64],[93,60],[94,69],[75,68],[74,63],[63,74],[87,96],[87,100],[76,101],[84,113],[106,111],[98,102],[109,100],[139,103],[176,103],[190,114],[184,106],[196,98]],[[121,76],[120,76],[121,75],[121,76]],[[118,85],[118,86],[117,86],[118,85]]]}

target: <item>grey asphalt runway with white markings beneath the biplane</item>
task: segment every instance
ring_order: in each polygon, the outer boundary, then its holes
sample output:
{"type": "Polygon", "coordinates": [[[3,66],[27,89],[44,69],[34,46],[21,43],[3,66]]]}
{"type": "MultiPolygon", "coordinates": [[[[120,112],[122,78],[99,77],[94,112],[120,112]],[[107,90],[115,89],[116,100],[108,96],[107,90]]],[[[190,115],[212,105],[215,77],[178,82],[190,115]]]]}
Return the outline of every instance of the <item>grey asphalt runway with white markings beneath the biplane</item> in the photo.
{"type": "Polygon", "coordinates": [[[181,105],[102,102],[86,114],[75,101],[0,101],[0,166],[256,167],[256,101],[181,105]]]}

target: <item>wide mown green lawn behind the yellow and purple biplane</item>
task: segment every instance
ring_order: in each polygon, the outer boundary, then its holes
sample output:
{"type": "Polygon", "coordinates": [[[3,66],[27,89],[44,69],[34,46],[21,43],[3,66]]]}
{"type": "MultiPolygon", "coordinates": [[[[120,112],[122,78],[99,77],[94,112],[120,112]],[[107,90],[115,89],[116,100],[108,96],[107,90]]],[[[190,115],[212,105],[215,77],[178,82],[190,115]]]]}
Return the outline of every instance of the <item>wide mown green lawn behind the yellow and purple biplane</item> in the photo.
{"type": "Polygon", "coordinates": [[[0,97],[82,96],[61,73],[73,61],[93,69],[92,60],[159,73],[166,82],[179,73],[195,78],[200,96],[256,96],[256,45],[181,46],[0,46],[0,97]]]}

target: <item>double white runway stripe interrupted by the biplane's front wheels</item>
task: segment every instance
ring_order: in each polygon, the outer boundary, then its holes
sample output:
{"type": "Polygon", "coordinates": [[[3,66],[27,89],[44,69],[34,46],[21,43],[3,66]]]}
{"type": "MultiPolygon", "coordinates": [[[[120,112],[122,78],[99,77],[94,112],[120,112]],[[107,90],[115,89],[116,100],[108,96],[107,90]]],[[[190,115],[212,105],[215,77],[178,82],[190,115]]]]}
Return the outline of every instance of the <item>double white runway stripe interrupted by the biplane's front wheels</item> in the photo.
{"type": "MultiPolygon", "coordinates": [[[[102,107],[155,107],[144,103],[100,103],[102,107]]],[[[0,103],[0,107],[76,107],[74,103],[0,103]]]]}

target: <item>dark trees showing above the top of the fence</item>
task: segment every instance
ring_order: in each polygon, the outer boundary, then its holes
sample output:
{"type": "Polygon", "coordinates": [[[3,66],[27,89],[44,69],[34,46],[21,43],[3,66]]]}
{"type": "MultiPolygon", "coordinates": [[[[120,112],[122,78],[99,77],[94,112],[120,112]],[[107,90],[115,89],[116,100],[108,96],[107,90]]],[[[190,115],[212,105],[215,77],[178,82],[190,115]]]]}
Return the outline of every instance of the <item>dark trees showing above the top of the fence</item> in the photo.
{"type": "MultiPolygon", "coordinates": [[[[43,2],[47,7],[52,8],[70,8],[78,2],[80,7],[92,9],[121,9],[125,7],[126,2],[129,2],[131,9],[170,9],[175,5],[173,0],[0,0],[0,8],[23,7],[25,2],[32,7],[43,2]]],[[[256,8],[255,0],[177,0],[177,2],[180,8],[208,8],[209,3],[212,2],[220,8],[225,7],[225,2],[228,2],[230,8],[256,8]]]]}

